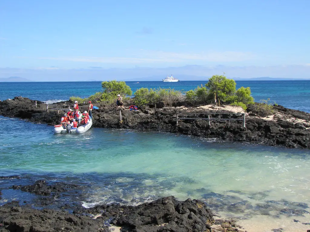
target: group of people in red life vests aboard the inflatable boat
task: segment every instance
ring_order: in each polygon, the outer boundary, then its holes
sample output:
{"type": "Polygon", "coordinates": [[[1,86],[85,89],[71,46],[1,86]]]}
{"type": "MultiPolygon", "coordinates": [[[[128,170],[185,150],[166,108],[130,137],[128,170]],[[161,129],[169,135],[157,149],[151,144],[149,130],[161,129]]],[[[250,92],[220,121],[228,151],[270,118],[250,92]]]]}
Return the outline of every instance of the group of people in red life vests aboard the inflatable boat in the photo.
{"type": "Polygon", "coordinates": [[[85,125],[89,121],[90,118],[92,118],[92,110],[93,110],[93,104],[91,104],[91,101],[88,102],[88,111],[84,111],[82,113],[82,119],[79,122],[79,118],[81,116],[81,112],[78,106],[78,101],[74,102],[74,111],[70,109],[67,113],[64,114],[63,117],[61,117],[60,124],[64,126],[64,128],[67,127],[67,124],[70,124],[71,127],[78,128],[80,125],[85,125]]]}

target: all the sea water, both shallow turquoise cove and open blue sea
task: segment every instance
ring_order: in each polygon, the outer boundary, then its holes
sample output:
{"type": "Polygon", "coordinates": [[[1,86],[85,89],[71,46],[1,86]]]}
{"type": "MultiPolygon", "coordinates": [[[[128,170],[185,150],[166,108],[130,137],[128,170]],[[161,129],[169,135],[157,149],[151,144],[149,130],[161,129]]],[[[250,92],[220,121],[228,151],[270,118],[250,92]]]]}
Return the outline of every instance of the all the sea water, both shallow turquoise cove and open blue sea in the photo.
{"type": "MultiPolygon", "coordinates": [[[[133,91],[187,91],[204,82],[127,84],[133,91]]],[[[238,81],[240,86],[250,86],[256,101],[270,98],[309,112],[310,81],[238,81]]],[[[88,97],[100,89],[100,82],[0,83],[0,98],[58,101],[88,97]]],[[[255,225],[249,232],[280,227],[306,231],[306,225],[292,221],[310,221],[309,150],[104,128],[54,135],[52,126],[2,116],[0,126],[0,176],[20,175],[0,178],[0,205],[18,200],[42,207],[36,205],[40,196],[10,187],[46,179],[83,187],[78,198],[64,195],[49,206],[55,208],[76,203],[135,205],[174,195],[179,200],[200,199],[221,217],[255,225]]]]}

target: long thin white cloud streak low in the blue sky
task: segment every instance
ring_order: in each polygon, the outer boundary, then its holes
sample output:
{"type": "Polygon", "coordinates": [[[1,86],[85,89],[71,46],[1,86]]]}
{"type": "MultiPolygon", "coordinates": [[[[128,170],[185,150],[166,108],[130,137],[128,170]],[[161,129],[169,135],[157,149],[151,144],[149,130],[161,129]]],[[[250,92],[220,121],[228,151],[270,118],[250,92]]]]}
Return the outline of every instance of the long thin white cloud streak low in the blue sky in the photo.
{"type": "Polygon", "coordinates": [[[141,64],[153,62],[240,62],[254,59],[256,56],[247,52],[210,52],[210,53],[175,53],[164,51],[139,50],[131,57],[42,57],[40,59],[74,62],[126,63],[141,64]]]}

